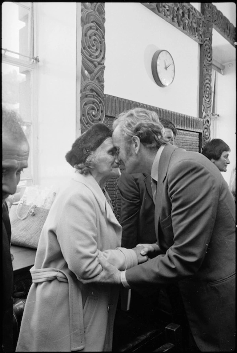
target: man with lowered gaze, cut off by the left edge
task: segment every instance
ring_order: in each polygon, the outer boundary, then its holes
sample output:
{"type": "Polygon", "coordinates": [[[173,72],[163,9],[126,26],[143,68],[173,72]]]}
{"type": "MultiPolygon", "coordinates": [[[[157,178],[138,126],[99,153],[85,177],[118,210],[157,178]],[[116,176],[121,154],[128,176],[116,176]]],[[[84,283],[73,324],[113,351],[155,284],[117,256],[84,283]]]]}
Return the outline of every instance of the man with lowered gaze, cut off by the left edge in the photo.
{"type": "Polygon", "coordinates": [[[13,110],[2,108],[2,351],[13,352],[13,270],[11,224],[6,198],[16,192],[20,173],[28,167],[29,143],[13,110]]]}

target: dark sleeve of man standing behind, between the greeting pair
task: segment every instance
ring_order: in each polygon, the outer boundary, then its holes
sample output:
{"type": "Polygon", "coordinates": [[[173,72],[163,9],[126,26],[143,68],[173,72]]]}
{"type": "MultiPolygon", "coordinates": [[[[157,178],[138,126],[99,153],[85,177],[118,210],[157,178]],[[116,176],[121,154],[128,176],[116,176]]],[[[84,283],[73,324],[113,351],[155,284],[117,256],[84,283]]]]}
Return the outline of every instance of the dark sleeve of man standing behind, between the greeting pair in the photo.
{"type": "Polygon", "coordinates": [[[121,195],[120,224],[123,227],[122,246],[135,247],[138,241],[138,224],[140,214],[140,190],[133,176],[123,172],[118,181],[121,195]]]}

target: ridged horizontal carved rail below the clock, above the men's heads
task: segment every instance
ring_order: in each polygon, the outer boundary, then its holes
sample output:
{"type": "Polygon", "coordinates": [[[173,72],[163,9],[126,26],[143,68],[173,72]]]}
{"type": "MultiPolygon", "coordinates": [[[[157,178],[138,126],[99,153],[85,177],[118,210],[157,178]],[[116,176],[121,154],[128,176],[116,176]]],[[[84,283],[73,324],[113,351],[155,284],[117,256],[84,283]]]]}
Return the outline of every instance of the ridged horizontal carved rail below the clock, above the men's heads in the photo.
{"type": "Polygon", "coordinates": [[[105,94],[105,114],[106,117],[115,117],[125,110],[133,108],[145,108],[153,110],[159,118],[171,120],[173,124],[180,129],[202,132],[203,119],[196,118],[195,116],[185,115],[182,113],[173,112],[172,110],[162,109],[148,104],[143,104],[128,99],[120,98],[105,94]]]}

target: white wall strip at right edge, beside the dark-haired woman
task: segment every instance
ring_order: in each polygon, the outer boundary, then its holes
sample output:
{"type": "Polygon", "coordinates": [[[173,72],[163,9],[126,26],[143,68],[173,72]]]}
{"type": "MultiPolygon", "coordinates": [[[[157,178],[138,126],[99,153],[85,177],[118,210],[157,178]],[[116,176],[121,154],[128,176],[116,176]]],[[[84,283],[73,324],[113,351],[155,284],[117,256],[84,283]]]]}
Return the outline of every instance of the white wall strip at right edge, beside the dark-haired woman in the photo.
{"type": "Polygon", "coordinates": [[[229,183],[231,170],[236,163],[236,62],[225,65],[224,75],[217,75],[217,113],[216,136],[230,147],[230,164],[223,172],[229,183]]]}

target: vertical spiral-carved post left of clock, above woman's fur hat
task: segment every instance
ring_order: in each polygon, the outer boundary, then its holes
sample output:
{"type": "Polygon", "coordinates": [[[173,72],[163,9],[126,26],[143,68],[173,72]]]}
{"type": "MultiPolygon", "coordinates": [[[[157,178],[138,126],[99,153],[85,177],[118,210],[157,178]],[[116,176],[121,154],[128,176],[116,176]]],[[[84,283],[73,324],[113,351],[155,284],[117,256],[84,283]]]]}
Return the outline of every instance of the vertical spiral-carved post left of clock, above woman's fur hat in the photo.
{"type": "Polygon", "coordinates": [[[81,130],[105,116],[105,9],[103,2],[81,3],[81,130]]]}

